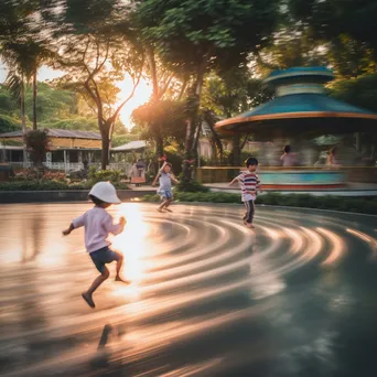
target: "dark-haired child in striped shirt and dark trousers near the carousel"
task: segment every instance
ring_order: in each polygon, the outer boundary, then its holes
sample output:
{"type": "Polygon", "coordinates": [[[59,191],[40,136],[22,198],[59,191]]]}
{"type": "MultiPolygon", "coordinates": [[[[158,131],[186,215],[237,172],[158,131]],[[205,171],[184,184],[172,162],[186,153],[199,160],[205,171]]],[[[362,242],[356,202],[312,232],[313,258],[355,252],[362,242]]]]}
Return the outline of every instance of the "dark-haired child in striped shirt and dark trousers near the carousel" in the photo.
{"type": "Polygon", "coordinates": [[[235,182],[240,183],[243,202],[246,207],[246,214],[244,216],[244,224],[248,228],[254,228],[252,218],[255,214],[255,205],[254,202],[257,198],[257,191],[260,193],[263,192],[258,174],[256,173],[258,166],[258,160],[255,158],[248,158],[246,161],[247,170],[241,172],[238,176],[236,176],[230,183],[231,186],[235,182]]]}

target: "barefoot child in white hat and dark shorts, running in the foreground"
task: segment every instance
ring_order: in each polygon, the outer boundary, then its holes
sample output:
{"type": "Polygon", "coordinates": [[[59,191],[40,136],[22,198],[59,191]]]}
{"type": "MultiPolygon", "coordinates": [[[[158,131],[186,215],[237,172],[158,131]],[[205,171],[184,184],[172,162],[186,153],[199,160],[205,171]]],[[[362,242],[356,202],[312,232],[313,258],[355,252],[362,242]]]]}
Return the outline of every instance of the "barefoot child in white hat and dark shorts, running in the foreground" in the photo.
{"type": "Polygon", "coordinates": [[[74,229],[85,227],[85,247],[100,276],[94,280],[89,289],[82,297],[90,308],[95,308],[93,293],[110,274],[105,266],[106,263],[111,263],[116,260],[117,276],[115,280],[127,284],[130,281],[123,280],[119,274],[123,263],[123,256],[110,250],[110,243],[107,240],[109,234],[119,235],[122,233],[126,225],[125,217],[120,218],[119,224],[114,224],[114,218],[106,211],[111,204],[121,203],[117,192],[111,183],[98,182],[91,187],[89,197],[95,206],[84,215],[75,218],[68,229],[63,231],[63,235],[67,236],[74,229]]]}

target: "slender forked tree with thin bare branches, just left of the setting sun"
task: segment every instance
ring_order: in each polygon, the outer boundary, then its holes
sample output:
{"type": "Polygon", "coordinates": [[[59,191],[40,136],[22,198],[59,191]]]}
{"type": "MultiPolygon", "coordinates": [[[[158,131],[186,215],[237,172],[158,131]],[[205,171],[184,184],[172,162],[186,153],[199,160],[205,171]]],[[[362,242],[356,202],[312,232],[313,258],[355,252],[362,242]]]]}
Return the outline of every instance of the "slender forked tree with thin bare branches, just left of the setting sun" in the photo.
{"type": "Polygon", "coordinates": [[[101,134],[101,168],[105,170],[116,120],[132,98],[142,75],[143,53],[127,20],[122,20],[122,34],[118,29],[121,1],[66,0],[65,4],[58,22],[57,35],[64,36],[56,46],[58,63],[68,72],[66,78],[75,82],[89,97],[101,134]],[[125,74],[132,80],[130,95],[119,105],[107,106],[109,85],[122,79],[125,74]]]}

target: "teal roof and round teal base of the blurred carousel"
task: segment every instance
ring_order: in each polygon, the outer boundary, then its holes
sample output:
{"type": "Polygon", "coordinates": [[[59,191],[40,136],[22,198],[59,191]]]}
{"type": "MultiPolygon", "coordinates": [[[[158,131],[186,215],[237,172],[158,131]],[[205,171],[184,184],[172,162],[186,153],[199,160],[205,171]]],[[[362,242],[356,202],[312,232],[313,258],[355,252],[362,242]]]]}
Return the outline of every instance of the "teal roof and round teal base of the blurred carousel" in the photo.
{"type": "MultiPolygon", "coordinates": [[[[219,133],[251,133],[257,140],[310,140],[323,134],[377,132],[377,115],[326,95],[334,79],[325,67],[295,67],[272,72],[263,82],[274,98],[235,118],[222,120],[219,133]]],[[[341,166],[260,165],[266,188],[325,190],[346,186],[347,170],[341,166]]]]}

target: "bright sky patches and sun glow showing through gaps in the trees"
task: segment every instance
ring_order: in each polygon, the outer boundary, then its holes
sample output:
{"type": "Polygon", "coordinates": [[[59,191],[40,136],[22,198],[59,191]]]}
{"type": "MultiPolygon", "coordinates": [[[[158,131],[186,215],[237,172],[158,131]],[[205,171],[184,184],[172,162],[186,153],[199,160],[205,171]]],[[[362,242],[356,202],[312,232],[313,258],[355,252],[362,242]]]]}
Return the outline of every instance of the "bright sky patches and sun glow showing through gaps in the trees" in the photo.
{"type": "MultiPolygon", "coordinates": [[[[47,66],[43,66],[39,71],[37,79],[39,82],[44,82],[47,79],[57,78],[62,75],[64,75],[64,72],[62,71],[55,71],[55,69],[49,68],[47,66]]],[[[6,77],[7,77],[7,69],[3,66],[3,64],[0,63],[0,83],[3,83],[6,80],[6,77]]],[[[128,79],[126,78],[125,80],[118,83],[118,87],[121,90],[119,95],[119,103],[121,103],[122,99],[126,99],[130,95],[132,90],[132,82],[130,80],[130,78],[128,79]]],[[[134,93],[134,96],[126,104],[126,106],[123,107],[119,116],[121,121],[127,128],[130,129],[133,127],[130,120],[133,109],[136,109],[140,105],[146,104],[149,97],[151,96],[151,93],[152,93],[152,88],[149,85],[149,83],[144,79],[141,79],[134,93]]]]}

